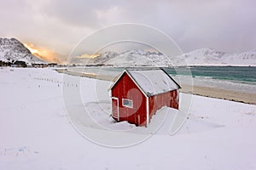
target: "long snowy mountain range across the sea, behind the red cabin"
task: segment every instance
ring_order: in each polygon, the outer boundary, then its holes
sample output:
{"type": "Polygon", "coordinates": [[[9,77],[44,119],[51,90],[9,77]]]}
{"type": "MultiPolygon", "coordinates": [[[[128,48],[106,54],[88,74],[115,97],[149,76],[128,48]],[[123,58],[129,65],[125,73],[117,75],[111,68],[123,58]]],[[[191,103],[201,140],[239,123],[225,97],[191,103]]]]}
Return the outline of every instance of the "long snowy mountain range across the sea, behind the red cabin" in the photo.
{"type": "Polygon", "coordinates": [[[114,66],[180,66],[180,65],[256,65],[256,50],[241,53],[225,53],[212,48],[201,48],[178,56],[165,56],[161,53],[135,49],[121,54],[108,52],[90,64],[114,66]]]}

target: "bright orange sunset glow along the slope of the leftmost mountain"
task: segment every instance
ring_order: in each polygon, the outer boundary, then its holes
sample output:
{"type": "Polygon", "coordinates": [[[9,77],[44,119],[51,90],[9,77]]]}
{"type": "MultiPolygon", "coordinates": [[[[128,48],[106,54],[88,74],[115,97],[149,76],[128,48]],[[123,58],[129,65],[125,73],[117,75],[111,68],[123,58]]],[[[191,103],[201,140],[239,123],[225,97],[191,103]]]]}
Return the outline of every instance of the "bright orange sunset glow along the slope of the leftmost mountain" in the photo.
{"type": "Polygon", "coordinates": [[[44,59],[49,63],[60,63],[60,59],[56,54],[47,48],[35,47],[32,43],[24,43],[24,46],[30,50],[32,54],[37,56],[39,59],[44,59]]]}

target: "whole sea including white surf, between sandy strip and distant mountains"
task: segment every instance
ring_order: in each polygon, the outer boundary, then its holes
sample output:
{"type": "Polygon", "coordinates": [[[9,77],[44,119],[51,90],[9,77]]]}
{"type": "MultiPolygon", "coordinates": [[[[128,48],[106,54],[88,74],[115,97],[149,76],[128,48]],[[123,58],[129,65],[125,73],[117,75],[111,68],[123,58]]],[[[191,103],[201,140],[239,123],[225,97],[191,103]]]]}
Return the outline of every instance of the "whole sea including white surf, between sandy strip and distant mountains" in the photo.
{"type": "MultiPolygon", "coordinates": [[[[125,68],[80,67],[73,71],[117,76],[125,68]]],[[[187,66],[163,68],[177,82],[256,94],[256,66],[187,66]]]]}

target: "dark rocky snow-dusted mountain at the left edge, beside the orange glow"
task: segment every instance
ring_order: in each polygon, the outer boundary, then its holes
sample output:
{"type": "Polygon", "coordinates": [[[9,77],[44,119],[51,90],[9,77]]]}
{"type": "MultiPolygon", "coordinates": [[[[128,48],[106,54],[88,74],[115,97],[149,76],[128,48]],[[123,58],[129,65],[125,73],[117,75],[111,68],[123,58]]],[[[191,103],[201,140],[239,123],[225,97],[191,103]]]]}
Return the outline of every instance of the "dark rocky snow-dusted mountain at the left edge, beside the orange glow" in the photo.
{"type": "Polygon", "coordinates": [[[4,62],[25,61],[26,64],[45,63],[34,56],[15,38],[0,38],[0,60],[4,62]]]}

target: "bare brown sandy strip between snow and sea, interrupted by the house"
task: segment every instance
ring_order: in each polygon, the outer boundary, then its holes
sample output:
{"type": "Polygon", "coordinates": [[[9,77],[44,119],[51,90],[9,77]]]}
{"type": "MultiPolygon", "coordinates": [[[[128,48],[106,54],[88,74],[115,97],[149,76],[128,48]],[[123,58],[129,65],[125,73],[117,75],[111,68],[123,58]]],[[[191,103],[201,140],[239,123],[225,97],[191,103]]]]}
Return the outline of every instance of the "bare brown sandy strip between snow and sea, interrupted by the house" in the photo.
{"type": "MultiPolygon", "coordinates": [[[[64,69],[57,69],[56,71],[60,73],[65,73],[68,75],[79,76],[79,77],[90,77],[99,80],[112,81],[114,82],[118,77],[106,76],[106,75],[96,75],[93,73],[81,73],[74,71],[67,71],[64,69]]],[[[246,104],[256,105],[256,94],[255,93],[243,93],[243,92],[235,92],[231,90],[224,90],[220,88],[209,88],[209,87],[201,87],[201,86],[189,86],[186,84],[181,84],[181,92],[185,94],[195,94],[201,95],[205,97],[217,98],[217,99],[228,99],[230,101],[236,101],[246,104]]]]}

